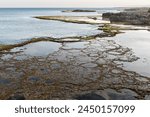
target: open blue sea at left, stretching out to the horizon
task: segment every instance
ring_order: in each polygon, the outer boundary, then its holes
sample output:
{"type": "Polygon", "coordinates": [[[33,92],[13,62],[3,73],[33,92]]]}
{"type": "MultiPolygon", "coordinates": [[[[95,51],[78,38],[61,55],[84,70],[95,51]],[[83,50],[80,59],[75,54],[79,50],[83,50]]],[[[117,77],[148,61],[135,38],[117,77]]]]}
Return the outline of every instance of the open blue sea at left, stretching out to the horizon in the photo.
{"type": "MultiPolygon", "coordinates": [[[[0,9],[0,43],[14,44],[33,37],[67,37],[99,33],[97,28],[87,24],[73,24],[59,21],[45,21],[33,16],[97,15],[114,9],[97,9],[97,13],[63,13],[66,9],[49,8],[3,8],[0,9]]],[[[114,10],[114,12],[117,10],[114,10]]]]}

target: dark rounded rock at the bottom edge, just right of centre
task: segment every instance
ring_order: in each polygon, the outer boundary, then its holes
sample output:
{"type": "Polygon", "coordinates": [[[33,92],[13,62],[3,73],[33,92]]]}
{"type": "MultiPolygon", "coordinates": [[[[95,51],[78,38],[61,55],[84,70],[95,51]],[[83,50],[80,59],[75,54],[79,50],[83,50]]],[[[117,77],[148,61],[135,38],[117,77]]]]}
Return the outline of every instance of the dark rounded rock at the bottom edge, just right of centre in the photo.
{"type": "Polygon", "coordinates": [[[105,100],[104,97],[97,95],[95,93],[83,94],[75,97],[77,100],[105,100]]]}

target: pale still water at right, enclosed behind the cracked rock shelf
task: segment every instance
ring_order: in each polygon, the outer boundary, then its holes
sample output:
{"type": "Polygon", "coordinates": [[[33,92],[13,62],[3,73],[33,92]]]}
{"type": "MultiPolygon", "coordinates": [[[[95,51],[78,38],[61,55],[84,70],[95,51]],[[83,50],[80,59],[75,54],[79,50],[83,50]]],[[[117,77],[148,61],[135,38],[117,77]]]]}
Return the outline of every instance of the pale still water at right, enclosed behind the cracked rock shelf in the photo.
{"type": "Polygon", "coordinates": [[[139,57],[137,61],[125,62],[124,68],[150,77],[150,32],[145,30],[125,31],[112,38],[124,47],[131,48],[139,57]]]}

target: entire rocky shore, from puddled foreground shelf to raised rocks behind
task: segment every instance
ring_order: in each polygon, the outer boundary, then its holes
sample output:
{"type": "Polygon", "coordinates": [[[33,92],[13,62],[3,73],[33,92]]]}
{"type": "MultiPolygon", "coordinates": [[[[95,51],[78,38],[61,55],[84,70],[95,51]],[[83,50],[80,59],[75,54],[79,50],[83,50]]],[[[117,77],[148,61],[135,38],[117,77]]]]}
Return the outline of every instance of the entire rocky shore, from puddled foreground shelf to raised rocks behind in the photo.
{"type": "MultiPolygon", "coordinates": [[[[148,9],[128,9],[121,13],[104,13],[103,19],[148,25],[148,22],[143,23],[148,12],[148,9]],[[140,18],[135,18],[136,15],[140,18]]],[[[39,20],[91,24],[100,32],[90,36],[39,37],[14,45],[0,45],[0,99],[150,99],[150,78],[123,68],[123,63],[140,58],[132,48],[111,38],[123,35],[125,30],[147,29],[111,24],[99,17],[37,16],[39,20]]]]}

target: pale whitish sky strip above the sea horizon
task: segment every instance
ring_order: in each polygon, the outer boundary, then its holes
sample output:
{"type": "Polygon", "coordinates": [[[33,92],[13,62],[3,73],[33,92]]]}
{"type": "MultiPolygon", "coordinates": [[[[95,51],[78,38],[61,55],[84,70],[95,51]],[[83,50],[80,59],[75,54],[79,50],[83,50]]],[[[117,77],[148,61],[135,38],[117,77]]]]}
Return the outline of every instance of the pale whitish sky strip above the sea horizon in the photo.
{"type": "Polygon", "coordinates": [[[0,7],[136,7],[150,0],[0,0],[0,7]]]}

